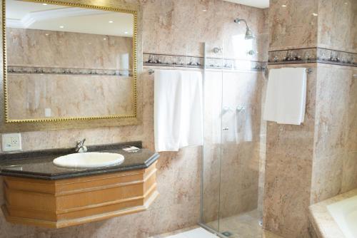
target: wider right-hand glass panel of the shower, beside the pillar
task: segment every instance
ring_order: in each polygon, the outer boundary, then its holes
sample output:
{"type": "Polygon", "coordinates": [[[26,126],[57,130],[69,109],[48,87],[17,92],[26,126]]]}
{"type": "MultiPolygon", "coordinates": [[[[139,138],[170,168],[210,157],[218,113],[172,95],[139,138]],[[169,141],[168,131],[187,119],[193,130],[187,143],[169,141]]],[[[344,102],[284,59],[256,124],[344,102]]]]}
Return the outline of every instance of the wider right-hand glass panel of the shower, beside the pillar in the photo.
{"type": "Polygon", "coordinates": [[[218,232],[261,237],[266,80],[258,46],[266,38],[237,33],[223,40],[221,177],[218,232]]]}

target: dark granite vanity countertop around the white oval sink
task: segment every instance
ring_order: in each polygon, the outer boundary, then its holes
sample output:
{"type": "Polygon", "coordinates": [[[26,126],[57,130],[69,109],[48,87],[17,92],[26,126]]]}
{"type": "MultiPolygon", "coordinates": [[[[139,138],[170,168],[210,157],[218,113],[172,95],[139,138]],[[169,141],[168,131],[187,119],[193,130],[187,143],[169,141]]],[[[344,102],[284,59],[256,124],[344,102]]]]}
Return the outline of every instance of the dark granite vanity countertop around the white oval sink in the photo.
{"type": "Polygon", "coordinates": [[[29,152],[12,152],[0,154],[0,175],[12,177],[28,177],[41,180],[61,180],[71,177],[101,175],[111,172],[139,170],[149,167],[158,158],[157,152],[141,147],[141,142],[118,143],[111,145],[88,146],[88,152],[113,152],[124,155],[120,165],[94,168],[58,167],[52,162],[56,157],[74,152],[74,148],[56,150],[35,150],[29,152]],[[122,148],[134,145],[141,148],[137,152],[125,152],[122,148]]]}

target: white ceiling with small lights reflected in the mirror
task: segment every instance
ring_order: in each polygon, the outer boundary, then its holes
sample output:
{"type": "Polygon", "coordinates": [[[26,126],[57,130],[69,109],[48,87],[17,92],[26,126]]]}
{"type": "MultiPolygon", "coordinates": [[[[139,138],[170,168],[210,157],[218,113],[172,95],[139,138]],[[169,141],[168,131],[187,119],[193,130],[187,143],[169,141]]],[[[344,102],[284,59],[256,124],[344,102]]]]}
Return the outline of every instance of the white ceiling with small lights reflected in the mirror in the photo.
{"type": "Polygon", "coordinates": [[[6,0],[6,27],[133,36],[132,14],[6,0]]]}

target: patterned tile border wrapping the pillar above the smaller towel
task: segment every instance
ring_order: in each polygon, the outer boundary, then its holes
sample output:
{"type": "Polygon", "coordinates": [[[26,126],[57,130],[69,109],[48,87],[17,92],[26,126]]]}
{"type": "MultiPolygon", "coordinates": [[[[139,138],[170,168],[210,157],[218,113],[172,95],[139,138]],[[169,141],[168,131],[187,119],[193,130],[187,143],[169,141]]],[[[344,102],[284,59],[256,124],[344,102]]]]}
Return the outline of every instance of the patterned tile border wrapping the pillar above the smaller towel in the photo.
{"type": "Polygon", "coordinates": [[[268,64],[330,63],[357,67],[357,53],[335,51],[328,48],[296,48],[269,51],[268,64]]]}

